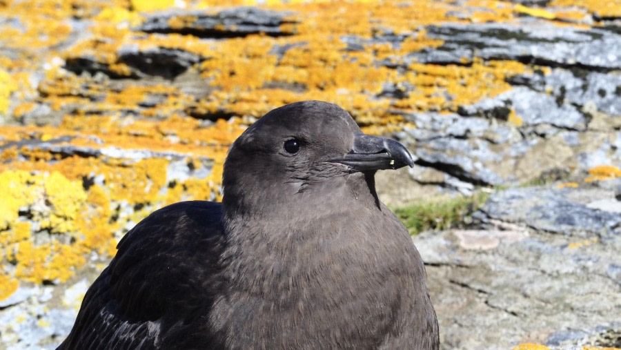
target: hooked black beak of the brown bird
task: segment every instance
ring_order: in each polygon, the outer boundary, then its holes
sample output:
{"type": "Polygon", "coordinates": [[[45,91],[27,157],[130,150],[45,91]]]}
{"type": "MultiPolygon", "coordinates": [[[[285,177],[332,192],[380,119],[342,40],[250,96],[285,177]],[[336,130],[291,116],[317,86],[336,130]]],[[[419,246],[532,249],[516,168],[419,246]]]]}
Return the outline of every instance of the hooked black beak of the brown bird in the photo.
{"type": "Polygon", "coordinates": [[[349,166],[353,173],[414,166],[408,150],[393,139],[357,133],[352,150],[343,157],[328,159],[349,166]]]}

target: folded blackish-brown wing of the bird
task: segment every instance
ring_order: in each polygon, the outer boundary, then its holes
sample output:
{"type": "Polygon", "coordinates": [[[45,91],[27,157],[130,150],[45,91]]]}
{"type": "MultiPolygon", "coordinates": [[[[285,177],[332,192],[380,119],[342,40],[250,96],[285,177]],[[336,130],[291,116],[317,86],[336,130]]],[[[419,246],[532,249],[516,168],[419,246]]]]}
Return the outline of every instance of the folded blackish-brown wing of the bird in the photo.
{"type": "Polygon", "coordinates": [[[213,342],[207,318],[221,290],[221,213],[218,203],[180,202],[139,222],[88,289],[59,349],[188,349],[213,342]]]}

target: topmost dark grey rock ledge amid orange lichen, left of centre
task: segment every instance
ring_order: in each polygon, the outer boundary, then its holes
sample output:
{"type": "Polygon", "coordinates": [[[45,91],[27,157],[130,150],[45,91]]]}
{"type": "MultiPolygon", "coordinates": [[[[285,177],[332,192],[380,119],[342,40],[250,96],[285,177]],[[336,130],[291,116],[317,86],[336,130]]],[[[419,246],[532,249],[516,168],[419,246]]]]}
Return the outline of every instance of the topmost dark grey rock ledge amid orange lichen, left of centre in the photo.
{"type": "Polygon", "coordinates": [[[150,33],[180,33],[202,38],[245,37],[264,33],[273,37],[291,35],[282,28],[288,12],[240,7],[222,10],[217,14],[204,11],[164,11],[148,14],[135,30],[150,33]],[[172,23],[172,24],[171,24],[172,23]]]}

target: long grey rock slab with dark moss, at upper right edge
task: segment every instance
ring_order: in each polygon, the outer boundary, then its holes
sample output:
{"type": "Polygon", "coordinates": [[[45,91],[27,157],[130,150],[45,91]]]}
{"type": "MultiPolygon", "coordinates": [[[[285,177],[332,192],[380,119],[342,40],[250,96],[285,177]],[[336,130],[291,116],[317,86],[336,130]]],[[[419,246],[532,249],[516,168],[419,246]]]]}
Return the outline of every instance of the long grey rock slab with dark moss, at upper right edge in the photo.
{"type": "Polygon", "coordinates": [[[426,30],[427,37],[442,39],[444,44],[412,52],[406,61],[461,65],[481,57],[602,71],[621,68],[621,35],[607,30],[560,27],[533,18],[511,24],[428,26],[426,30]]]}

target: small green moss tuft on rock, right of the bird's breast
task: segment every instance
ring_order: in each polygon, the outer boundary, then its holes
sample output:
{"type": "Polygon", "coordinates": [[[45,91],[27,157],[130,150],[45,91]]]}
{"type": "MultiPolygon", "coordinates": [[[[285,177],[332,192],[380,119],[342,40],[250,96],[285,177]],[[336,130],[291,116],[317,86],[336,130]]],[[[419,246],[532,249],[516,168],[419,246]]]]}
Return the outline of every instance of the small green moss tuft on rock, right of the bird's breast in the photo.
{"type": "Polygon", "coordinates": [[[410,235],[427,230],[446,230],[468,224],[472,213],[483,206],[489,193],[471,197],[420,200],[395,208],[393,212],[408,228],[410,235]]]}

